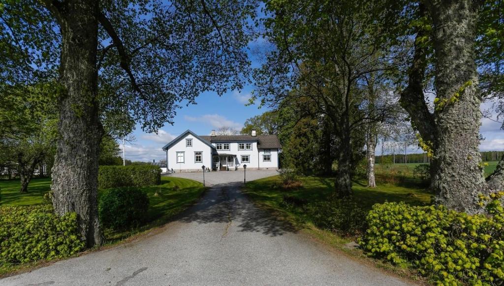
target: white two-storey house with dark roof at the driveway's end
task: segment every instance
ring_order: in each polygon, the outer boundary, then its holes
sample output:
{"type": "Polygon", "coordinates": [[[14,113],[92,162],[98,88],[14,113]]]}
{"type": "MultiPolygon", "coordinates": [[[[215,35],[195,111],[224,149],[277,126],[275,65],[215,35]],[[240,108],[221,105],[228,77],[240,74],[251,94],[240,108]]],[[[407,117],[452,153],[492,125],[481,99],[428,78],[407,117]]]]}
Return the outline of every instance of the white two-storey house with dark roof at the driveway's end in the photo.
{"type": "Polygon", "coordinates": [[[277,135],[196,135],[187,130],[163,147],[168,170],[201,172],[247,169],[278,169],[281,146],[277,135]]]}

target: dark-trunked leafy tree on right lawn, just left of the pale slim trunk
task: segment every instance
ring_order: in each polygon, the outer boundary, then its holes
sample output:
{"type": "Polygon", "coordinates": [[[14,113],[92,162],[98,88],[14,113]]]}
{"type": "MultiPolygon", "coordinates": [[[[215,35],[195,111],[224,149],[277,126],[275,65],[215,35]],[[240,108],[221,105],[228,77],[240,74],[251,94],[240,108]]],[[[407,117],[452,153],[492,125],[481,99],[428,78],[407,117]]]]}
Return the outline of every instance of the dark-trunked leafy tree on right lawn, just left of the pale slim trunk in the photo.
{"type": "MultiPolygon", "coordinates": [[[[278,103],[297,89],[331,120],[339,144],[339,196],[352,194],[352,154],[363,144],[361,127],[370,119],[361,108],[363,77],[388,68],[391,59],[375,55],[390,49],[401,26],[395,15],[401,10],[395,2],[380,0],[266,4],[266,36],[274,48],[255,73],[256,95],[278,103]]],[[[376,112],[373,120],[386,114],[376,112]]]]}

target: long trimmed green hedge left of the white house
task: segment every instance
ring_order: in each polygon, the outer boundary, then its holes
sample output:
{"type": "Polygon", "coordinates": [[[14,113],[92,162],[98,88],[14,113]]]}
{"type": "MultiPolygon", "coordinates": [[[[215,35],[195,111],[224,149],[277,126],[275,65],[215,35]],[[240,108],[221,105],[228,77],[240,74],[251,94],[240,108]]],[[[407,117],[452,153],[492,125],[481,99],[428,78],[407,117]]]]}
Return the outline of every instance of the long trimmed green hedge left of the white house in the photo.
{"type": "Polygon", "coordinates": [[[100,166],[98,188],[145,187],[161,183],[158,166],[100,166]]]}

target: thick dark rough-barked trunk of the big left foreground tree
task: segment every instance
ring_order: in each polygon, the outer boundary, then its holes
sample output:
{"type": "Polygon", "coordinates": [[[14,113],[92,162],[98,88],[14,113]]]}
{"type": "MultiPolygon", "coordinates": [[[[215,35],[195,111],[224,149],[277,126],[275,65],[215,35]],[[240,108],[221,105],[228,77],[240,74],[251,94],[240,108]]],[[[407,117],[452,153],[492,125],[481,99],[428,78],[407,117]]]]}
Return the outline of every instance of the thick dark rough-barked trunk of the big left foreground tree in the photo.
{"type": "Polygon", "coordinates": [[[58,215],[77,212],[82,239],[92,247],[103,241],[97,209],[98,147],[103,132],[97,101],[99,2],[79,0],[60,5],[60,82],[65,92],[58,99],[52,202],[58,215]]]}

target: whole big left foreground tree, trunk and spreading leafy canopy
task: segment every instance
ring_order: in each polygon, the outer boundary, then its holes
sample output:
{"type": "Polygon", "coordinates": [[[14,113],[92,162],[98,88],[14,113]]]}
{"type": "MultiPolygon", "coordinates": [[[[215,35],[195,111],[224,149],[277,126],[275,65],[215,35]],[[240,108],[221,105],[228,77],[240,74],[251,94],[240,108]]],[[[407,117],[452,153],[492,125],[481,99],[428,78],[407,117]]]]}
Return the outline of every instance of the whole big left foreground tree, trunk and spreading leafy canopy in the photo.
{"type": "Polygon", "coordinates": [[[256,1],[26,0],[0,6],[0,60],[8,83],[57,75],[56,213],[78,213],[88,246],[103,242],[97,216],[99,94],[153,131],[178,102],[240,88],[256,1]],[[19,41],[23,39],[23,41],[19,41]],[[59,55],[59,56],[58,56],[59,55]],[[55,69],[57,67],[57,69],[55,69]],[[57,70],[57,72],[56,72],[57,70]],[[106,91],[101,93],[100,90],[106,91]]]}

